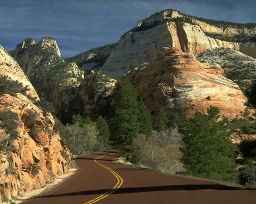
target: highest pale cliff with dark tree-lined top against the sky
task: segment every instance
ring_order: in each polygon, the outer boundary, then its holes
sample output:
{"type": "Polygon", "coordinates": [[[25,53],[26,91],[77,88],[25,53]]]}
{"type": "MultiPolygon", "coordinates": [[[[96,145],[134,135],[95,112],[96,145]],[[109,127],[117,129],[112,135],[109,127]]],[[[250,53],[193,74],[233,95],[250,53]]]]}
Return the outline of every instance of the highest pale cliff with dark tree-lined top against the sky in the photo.
{"type": "Polygon", "coordinates": [[[256,58],[255,24],[205,20],[165,10],[141,20],[124,34],[102,69],[110,77],[153,59],[164,46],[199,54],[214,48],[233,48],[256,58]]]}

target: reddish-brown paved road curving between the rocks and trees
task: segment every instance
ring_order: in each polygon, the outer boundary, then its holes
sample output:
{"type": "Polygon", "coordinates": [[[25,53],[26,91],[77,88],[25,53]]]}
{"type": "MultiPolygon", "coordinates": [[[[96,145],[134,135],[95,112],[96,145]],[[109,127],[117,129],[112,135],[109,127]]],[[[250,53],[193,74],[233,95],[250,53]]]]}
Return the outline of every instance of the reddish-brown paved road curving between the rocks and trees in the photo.
{"type": "Polygon", "coordinates": [[[113,162],[113,152],[77,158],[79,170],[49,195],[26,204],[218,204],[256,203],[256,191],[170,176],[113,162]]]}

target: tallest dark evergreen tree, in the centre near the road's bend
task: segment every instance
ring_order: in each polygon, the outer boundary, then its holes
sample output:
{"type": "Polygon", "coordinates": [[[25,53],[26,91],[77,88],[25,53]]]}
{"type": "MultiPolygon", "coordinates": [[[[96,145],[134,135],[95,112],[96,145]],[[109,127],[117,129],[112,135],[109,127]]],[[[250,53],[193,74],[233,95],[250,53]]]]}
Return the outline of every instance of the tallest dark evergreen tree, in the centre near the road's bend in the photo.
{"type": "Polygon", "coordinates": [[[139,133],[137,93],[127,80],[119,82],[115,98],[112,140],[115,145],[130,151],[133,138],[139,133]]]}

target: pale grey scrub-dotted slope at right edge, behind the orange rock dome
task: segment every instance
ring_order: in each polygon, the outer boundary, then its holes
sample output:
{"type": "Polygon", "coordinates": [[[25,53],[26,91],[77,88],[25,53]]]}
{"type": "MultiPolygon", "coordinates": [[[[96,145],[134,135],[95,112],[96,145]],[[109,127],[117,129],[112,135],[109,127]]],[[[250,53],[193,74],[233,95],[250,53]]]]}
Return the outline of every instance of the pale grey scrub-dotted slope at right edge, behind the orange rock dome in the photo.
{"type": "Polygon", "coordinates": [[[245,91],[256,79],[256,59],[233,49],[216,48],[197,55],[199,61],[218,63],[225,71],[226,77],[232,79],[241,90],[245,91]]]}

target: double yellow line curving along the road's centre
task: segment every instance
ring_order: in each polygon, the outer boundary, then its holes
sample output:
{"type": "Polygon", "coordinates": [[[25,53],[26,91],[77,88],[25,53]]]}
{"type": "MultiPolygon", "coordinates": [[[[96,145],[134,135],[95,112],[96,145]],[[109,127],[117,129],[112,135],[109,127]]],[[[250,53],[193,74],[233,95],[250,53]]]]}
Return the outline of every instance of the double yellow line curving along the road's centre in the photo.
{"type": "MultiPolygon", "coordinates": [[[[114,155],[114,154],[110,154],[110,155],[114,155]]],[[[107,156],[107,155],[105,155],[107,156]]],[[[99,156],[98,158],[96,158],[94,160],[94,162],[96,162],[98,165],[102,166],[103,168],[106,168],[108,171],[111,172],[111,174],[113,174],[116,178],[117,178],[117,184],[115,184],[115,186],[110,189],[108,192],[104,193],[103,195],[100,195],[99,197],[96,197],[95,199],[92,199],[84,204],[92,204],[92,203],[96,203],[102,199],[104,199],[105,197],[108,197],[108,195],[113,194],[115,191],[117,191],[117,189],[119,189],[121,187],[121,185],[123,184],[123,178],[121,176],[119,176],[119,174],[117,174],[117,172],[115,172],[113,169],[109,168],[108,166],[104,166],[103,164],[100,164],[99,162],[97,162],[98,159],[103,158],[105,156],[99,156]]]]}

